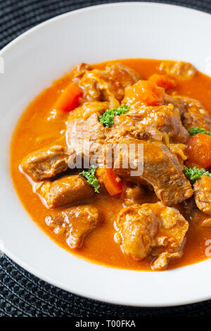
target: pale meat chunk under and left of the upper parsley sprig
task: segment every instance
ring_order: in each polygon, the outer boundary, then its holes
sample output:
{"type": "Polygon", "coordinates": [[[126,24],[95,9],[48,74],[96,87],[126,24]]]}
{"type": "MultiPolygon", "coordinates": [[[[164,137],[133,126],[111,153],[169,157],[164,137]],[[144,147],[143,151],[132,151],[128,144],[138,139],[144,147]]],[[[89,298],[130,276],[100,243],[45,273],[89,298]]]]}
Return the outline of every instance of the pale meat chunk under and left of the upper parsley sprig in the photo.
{"type": "Polygon", "coordinates": [[[70,113],[67,130],[70,154],[84,154],[84,144],[89,153],[93,154],[103,144],[108,129],[103,127],[98,118],[107,108],[108,103],[96,101],[85,103],[70,113]]]}

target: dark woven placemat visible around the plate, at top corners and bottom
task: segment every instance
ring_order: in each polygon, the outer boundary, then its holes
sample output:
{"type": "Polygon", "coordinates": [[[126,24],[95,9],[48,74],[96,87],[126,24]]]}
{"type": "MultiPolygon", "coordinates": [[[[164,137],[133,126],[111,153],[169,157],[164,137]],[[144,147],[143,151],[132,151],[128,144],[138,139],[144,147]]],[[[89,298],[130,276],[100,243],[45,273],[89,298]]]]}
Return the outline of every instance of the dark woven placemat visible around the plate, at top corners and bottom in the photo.
{"type": "MultiPolygon", "coordinates": [[[[120,1],[0,0],[0,49],[12,39],[55,15],[77,8],[120,1]]],[[[153,1],[178,4],[211,13],[211,1],[153,1]]],[[[75,316],[134,318],[160,316],[211,316],[211,300],[172,308],[133,308],[103,304],[82,298],[39,280],[13,263],[0,258],[0,317],[75,316]]]]}

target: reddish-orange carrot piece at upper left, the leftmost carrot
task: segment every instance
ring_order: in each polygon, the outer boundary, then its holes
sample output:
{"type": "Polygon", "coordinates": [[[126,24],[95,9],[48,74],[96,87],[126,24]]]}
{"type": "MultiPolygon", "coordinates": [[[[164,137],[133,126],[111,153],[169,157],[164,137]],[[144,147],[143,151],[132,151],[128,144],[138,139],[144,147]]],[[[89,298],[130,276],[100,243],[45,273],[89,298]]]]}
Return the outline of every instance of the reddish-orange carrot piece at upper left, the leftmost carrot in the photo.
{"type": "Polygon", "coordinates": [[[60,94],[53,108],[60,111],[72,111],[72,109],[79,105],[79,97],[82,96],[82,94],[82,89],[70,83],[62,94],[60,94]]]}

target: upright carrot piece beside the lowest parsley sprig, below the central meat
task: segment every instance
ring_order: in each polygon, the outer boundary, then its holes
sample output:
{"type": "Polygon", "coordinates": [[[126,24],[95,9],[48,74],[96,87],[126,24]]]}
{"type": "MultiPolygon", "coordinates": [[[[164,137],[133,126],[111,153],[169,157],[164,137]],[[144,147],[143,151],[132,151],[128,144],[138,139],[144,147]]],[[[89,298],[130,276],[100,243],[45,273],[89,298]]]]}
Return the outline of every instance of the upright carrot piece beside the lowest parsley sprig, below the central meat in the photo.
{"type": "Polygon", "coordinates": [[[122,193],[122,181],[115,175],[113,169],[101,168],[97,170],[97,176],[101,178],[110,195],[122,193]]]}

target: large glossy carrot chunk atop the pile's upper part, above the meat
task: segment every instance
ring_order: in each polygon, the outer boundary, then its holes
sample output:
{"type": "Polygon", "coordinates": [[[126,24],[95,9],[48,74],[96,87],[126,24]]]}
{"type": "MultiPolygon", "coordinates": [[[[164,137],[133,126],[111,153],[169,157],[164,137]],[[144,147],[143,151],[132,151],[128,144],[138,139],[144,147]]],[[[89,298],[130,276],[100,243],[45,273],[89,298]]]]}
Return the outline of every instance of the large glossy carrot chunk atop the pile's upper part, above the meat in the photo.
{"type": "Polygon", "coordinates": [[[155,82],[149,80],[139,80],[136,84],[128,87],[123,104],[136,104],[141,102],[147,106],[159,106],[165,96],[165,90],[158,87],[155,82]]]}

